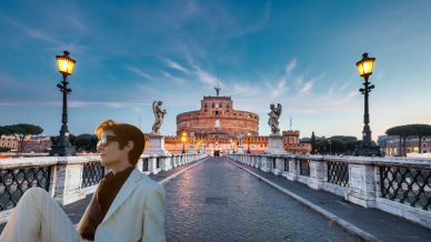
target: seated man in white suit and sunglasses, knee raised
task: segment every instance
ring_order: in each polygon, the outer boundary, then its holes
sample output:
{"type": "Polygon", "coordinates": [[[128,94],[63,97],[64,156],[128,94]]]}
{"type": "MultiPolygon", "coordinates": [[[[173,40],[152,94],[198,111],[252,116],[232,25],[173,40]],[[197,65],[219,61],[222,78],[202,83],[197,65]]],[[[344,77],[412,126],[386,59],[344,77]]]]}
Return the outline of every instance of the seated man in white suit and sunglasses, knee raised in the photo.
{"type": "Polygon", "coordinates": [[[136,127],[107,120],[94,133],[101,164],[99,183],[78,229],[42,189],[29,189],[18,202],[0,241],[166,241],[164,189],[134,167],[144,147],[136,127]]]}

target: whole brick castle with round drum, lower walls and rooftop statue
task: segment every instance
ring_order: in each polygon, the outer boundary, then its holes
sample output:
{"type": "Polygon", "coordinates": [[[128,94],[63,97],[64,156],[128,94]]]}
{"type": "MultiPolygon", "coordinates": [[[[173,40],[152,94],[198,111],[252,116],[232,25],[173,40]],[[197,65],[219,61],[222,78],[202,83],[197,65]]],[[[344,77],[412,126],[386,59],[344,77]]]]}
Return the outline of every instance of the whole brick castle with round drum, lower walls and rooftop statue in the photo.
{"type": "MultiPolygon", "coordinates": [[[[242,133],[242,149],[247,153],[267,151],[268,141],[259,135],[259,115],[249,111],[235,110],[231,97],[203,97],[200,110],[183,112],[177,115],[177,135],[166,137],[164,147],[171,153],[189,152],[192,144],[194,151],[208,154],[228,153],[238,150],[238,134],[242,133]],[[190,134],[196,139],[191,143],[190,134]],[[181,141],[182,133],[187,139],[181,141]]],[[[310,153],[311,145],[299,143],[299,131],[283,131],[284,149],[292,153],[310,153]]],[[[146,150],[149,150],[149,139],[146,139],[146,150]]]]}

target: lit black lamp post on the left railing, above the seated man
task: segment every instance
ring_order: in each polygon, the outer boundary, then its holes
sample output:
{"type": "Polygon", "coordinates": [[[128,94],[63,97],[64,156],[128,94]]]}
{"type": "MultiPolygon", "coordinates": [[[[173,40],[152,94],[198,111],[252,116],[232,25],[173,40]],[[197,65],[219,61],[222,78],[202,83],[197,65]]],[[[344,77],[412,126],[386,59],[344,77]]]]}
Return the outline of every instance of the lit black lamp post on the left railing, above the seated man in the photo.
{"type": "Polygon", "coordinates": [[[60,91],[63,93],[63,109],[61,115],[62,125],[60,130],[60,138],[56,142],[56,144],[52,145],[50,155],[67,157],[76,154],[74,147],[72,147],[69,142],[68,94],[70,94],[72,90],[68,88],[69,82],[67,78],[68,75],[72,74],[77,61],[71,59],[69,54],[69,51],[64,51],[63,56],[56,56],[59,71],[63,75],[63,80],[61,81],[61,83],[57,84],[57,88],[59,88],[60,91]]]}

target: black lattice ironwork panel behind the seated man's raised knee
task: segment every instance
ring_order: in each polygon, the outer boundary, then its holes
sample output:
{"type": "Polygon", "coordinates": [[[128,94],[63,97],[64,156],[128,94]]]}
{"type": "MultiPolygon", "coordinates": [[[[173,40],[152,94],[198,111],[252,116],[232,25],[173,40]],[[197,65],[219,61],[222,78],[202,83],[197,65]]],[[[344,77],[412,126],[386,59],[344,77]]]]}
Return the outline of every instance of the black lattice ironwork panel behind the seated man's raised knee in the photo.
{"type": "Polygon", "coordinates": [[[14,208],[30,188],[49,191],[50,167],[0,170],[0,211],[14,208]]]}

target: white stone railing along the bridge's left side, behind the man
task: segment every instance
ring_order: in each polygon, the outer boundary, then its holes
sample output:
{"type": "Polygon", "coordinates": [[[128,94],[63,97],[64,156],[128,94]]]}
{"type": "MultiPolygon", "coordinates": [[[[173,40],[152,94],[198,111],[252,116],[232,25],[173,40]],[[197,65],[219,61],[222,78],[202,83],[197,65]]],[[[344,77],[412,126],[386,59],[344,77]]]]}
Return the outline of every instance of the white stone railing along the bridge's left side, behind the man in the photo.
{"type": "MultiPolygon", "coordinates": [[[[206,154],[141,154],[137,168],[147,174],[156,174],[204,157],[206,154]]],[[[66,205],[94,192],[107,172],[100,165],[99,155],[0,160],[0,223],[7,221],[29,188],[43,188],[60,205],[66,205]]]]}

